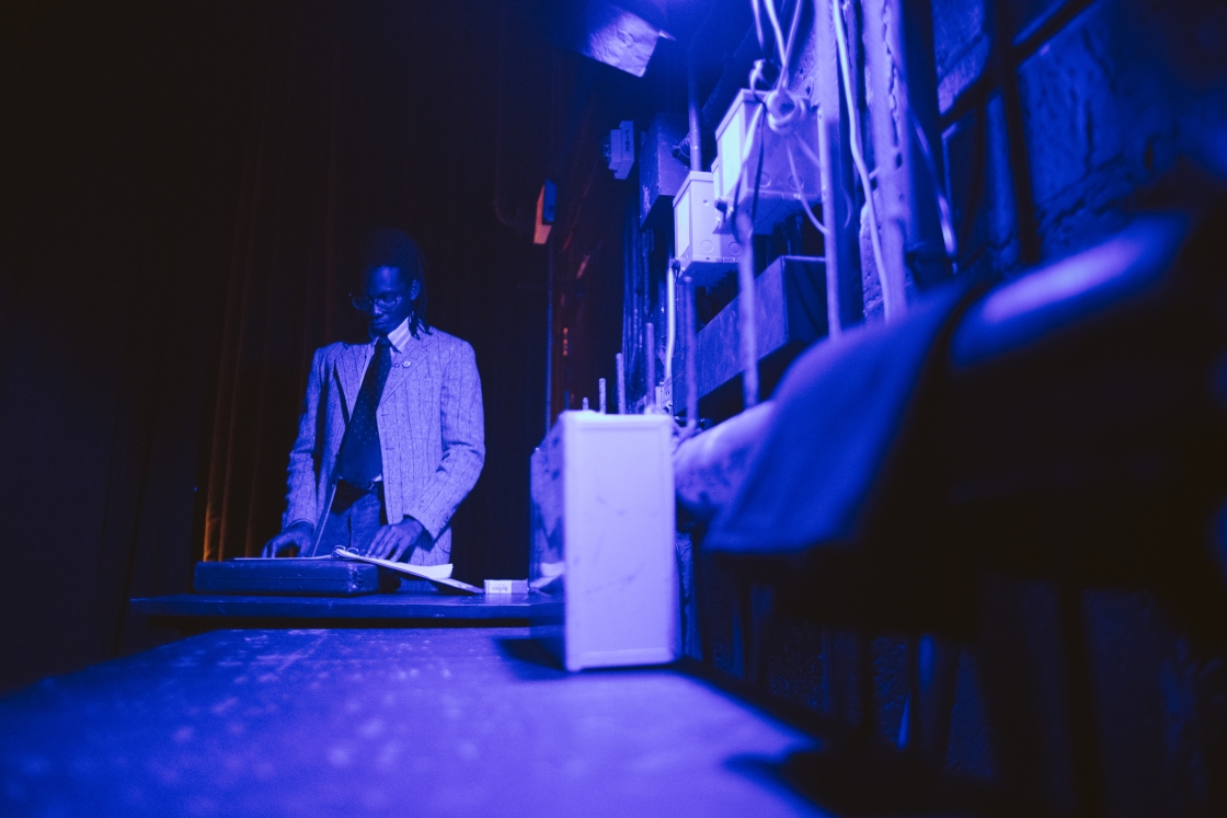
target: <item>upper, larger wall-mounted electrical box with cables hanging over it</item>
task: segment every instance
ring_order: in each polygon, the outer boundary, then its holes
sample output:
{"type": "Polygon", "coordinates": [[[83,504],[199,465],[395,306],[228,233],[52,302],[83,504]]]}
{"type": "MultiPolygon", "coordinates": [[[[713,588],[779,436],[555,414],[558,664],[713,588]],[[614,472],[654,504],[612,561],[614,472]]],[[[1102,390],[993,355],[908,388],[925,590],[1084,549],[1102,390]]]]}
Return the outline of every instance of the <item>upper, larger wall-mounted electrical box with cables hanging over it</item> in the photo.
{"type": "MultiPolygon", "coordinates": [[[[739,92],[715,129],[719,173],[713,183],[715,197],[724,205],[723,208],[718,205],[720,220],[717,229],[720,232],[733,232],[733,224],[724,215],[731,213],[734,205],[747,208],[747,212],[753,208],[755,232],[769,234],[785,216],[822,199],[821,177],[811,158],[811,155],[817,155],[815,109],[800,112],[788,134],[777,134],[767,125],[767,110],[761,96],[747,90],[739,92]],[[806,141],[804,147],[801,140],[806,141]],[[757,206],[753,204],[756,180],[757,206]]],[[[712,168],[715,170],[715,163],[712,168]]]]}

